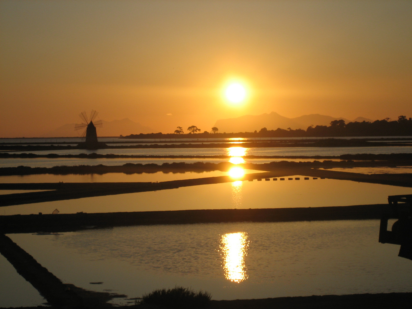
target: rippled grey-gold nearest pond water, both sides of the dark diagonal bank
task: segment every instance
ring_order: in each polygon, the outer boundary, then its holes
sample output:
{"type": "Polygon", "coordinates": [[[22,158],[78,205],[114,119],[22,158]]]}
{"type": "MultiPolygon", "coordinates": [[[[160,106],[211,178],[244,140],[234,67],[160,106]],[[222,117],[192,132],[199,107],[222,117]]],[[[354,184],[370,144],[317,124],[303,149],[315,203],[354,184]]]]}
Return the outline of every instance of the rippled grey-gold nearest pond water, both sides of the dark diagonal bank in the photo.
{"type": "MultiPolygon", "coordinates": [[[[412,261],[397,256],[399,246],[378,243],[378,234],[379,220],[353,220],[8,236],[63,282],[129,297],[175,285],[215,300],[411,292],[412,261]]],[[[42,303],[2,256],[0,272],[1,307],[42,303]]]]}

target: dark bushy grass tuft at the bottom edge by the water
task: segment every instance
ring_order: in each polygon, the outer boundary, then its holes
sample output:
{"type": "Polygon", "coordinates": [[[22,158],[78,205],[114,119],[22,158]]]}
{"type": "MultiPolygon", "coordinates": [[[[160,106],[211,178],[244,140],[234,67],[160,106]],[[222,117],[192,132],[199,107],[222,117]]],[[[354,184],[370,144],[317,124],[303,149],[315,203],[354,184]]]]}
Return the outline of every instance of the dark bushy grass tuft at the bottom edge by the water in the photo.
{"type": "Polygon", "coordinates": [[[176,286],[144,294],[140,304],[153,304],[165,308],[202,308],[210,303],[211,294],[176,286]]]}

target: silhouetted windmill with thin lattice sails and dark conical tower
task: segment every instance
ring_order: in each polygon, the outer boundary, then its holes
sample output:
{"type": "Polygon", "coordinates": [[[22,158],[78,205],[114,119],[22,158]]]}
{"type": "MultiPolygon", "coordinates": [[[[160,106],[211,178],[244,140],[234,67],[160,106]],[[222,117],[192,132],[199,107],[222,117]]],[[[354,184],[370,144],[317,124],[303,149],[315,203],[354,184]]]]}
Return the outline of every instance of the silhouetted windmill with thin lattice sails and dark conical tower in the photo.
{"type": "Polygon", "coordinates": [[[85,148],[85,149],[97,149],[103,148],[105,146],[104,143],[99,143],[97,141],[97,132],[96,126],[101,128],[103,126],[103,122],[98,120],[93,123],[93,120],[96,118],[98,112],[95,110],[91,110],[90,117],[87,117],[86,112],[82,112],[79,114],[80,119],[82,119],[81,124],[75,124],[75,131],[84,129],[81,137],[83,138],[86,136],[86,140],[78,145],[78,147],[85,148]]]}

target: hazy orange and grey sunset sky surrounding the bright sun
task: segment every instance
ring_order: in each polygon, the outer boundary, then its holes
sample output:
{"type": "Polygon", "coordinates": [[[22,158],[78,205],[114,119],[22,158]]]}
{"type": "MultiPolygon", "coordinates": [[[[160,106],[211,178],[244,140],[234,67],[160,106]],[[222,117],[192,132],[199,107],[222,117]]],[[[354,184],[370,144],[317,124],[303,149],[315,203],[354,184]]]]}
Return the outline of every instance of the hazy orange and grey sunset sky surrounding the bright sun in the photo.
{"type": "Polygon", "coordinates": [[[409,0],[2,0],[0,137],[91,109],[164,133],[272,111],[412,117],[411,16],[409,0]],[[222,98],[231,78],[241,106],[222,98]]]}

